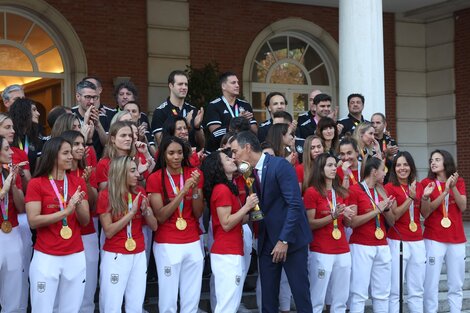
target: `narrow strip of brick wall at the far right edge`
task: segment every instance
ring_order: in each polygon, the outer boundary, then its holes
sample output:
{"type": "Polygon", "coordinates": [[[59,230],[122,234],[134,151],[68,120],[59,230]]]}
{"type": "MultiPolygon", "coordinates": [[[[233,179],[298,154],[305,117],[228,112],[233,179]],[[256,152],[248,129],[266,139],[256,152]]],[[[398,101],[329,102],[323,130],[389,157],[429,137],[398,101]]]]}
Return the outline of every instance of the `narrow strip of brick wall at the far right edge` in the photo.
{"type": "MultiPolygon", "coordinates": [[[[468,141],[468,125],[470,124],[470,9],[455,12],[455,110],[457,123],[457,158],[460,176],[467,181],[467,194],[470,186],[470,144],[468,141]]],[[[470,220],[470,211],[464,214],[470,220]]]]}

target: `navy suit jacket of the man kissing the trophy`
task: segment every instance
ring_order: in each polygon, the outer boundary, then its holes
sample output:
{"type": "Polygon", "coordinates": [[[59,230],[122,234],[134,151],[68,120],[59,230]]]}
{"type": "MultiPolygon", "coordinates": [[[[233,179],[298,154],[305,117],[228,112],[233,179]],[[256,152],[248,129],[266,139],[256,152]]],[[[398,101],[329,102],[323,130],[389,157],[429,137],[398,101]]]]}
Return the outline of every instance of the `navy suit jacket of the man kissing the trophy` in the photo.
{"type": "Polygon", "coordinates": [[[312,241],[295,170],[284,158],[266,155],[259,205],[265,216],[259,225],[258,251],[284,240],[290,253],[312,241]]]}

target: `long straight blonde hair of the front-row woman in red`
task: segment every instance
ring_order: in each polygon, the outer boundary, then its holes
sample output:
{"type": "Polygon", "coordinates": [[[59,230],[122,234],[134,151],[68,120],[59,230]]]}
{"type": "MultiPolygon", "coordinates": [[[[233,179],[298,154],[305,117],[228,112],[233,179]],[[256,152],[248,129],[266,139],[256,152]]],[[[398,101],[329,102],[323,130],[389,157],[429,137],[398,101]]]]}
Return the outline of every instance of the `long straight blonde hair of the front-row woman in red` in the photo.
{"type": "Polygon", "coordinates": [[[135,193],[134,188],[129,190],[127,186],[127,175],[131,162],[135,163],[130,156],[120,156],[112,159],[109,164],[108,199],[112,216],[122,216],[127,212],[127,201],[123,198],[123,191],[135,193]]]}

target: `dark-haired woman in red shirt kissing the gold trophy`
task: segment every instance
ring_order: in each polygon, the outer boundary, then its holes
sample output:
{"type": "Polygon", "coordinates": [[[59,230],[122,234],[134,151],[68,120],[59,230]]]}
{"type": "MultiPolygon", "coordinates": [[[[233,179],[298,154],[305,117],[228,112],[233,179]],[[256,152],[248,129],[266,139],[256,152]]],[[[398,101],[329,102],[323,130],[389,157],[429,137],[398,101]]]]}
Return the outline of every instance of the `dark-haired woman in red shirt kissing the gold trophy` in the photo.
{"type": "Polygon", "coordinates": [[[213,152],[203,163],[204,195],[212,215],[214,243],[211,248],[211,268],[214,276],[217,304],[215,313],[237,312],[243,292],[245,272],[243,261],[242,224],[248,212],[258,203],[256,194],[239,198],[233,183],[237,165],[224,152],[213,152]]]}

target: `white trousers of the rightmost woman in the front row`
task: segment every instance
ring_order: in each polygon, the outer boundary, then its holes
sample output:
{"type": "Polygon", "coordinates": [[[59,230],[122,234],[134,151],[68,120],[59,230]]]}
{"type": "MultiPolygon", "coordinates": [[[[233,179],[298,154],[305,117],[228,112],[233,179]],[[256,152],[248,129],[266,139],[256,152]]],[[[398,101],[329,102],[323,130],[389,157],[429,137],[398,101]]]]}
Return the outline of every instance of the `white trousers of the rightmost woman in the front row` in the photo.
{"type": "Polygon", "coordinates": [[[447,267],[447,300],[451,313],[462,311],[463,282],[465,279],[465,243],[450,244],[424,239],[426,246],[426,278],[424,280],[424,312],[438,309],[439,279],[442,264],[447,267]]]}

